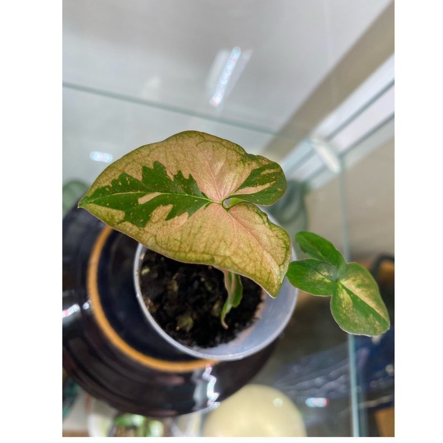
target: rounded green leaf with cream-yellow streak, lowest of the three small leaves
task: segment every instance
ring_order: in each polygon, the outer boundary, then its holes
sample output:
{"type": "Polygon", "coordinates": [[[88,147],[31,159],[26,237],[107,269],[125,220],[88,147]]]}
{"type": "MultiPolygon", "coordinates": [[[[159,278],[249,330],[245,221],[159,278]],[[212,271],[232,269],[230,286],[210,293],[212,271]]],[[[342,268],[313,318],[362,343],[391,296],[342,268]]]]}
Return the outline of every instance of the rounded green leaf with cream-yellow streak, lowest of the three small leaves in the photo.
{"type": "Polygon", "coordinates": [[[351,334],[380,335],[389,329],[389,316],[371,273],[349,263],[331,299],[331,312],[339,326],[351,334]]]}

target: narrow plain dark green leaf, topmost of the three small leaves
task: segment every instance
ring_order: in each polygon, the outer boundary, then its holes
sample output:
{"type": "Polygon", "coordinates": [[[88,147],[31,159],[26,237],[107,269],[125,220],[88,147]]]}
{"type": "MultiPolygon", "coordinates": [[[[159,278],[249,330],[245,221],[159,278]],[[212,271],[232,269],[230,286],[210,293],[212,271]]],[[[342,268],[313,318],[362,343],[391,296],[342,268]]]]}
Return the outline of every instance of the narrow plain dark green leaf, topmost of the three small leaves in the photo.
{"type": "Polygon", "coordinates": [[[346,261],[337,248],[328,240],[314,232],[300,231],[295,236],[301,250],[310,257],[326,261],[336,268],[343,266],[346,261]]]}

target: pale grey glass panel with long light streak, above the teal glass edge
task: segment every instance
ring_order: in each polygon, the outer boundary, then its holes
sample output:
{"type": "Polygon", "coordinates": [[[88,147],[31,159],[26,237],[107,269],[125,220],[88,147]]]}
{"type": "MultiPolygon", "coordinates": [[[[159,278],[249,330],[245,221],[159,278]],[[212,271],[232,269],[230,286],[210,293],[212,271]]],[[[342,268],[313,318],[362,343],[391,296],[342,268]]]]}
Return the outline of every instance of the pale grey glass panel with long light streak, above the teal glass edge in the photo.
{"type": "Polygon", "coordinates": [[[389,3],[65,0],[63,81],[279,130],[389,3]]]}

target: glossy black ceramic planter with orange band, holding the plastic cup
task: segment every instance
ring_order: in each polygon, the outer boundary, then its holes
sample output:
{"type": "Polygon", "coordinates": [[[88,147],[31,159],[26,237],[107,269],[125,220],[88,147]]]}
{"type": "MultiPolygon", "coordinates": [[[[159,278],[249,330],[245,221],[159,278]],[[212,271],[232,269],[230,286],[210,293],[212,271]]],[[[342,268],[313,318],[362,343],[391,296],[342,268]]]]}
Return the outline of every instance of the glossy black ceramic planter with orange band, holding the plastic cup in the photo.
{"type": "Polygon", "coordinates": [[[195,358],[150,327],[135,297],[138,243],[82,209],[63,220],[63,367],[85,391],[153,417],[211,408],[246,384],[275,341],[241,360],[195,358]]]}

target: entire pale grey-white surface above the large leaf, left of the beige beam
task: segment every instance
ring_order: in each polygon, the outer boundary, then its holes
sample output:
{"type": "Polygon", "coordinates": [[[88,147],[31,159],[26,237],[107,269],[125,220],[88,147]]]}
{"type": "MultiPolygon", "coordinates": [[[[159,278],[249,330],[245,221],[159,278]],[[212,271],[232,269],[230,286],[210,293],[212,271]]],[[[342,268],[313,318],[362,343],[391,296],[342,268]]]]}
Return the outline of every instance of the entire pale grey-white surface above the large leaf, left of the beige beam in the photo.
{"type": "Polygon", "coordinates": [[[185,129],[260,152],[389,3],[64,0],[63,181],[95,178],[92,151],[118,158],[185,129]]]}

